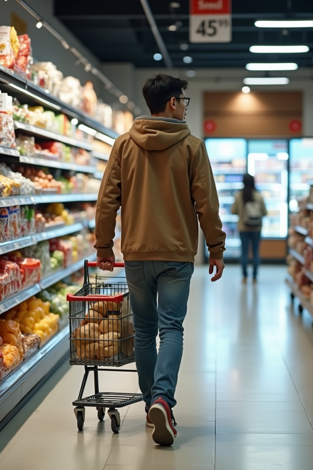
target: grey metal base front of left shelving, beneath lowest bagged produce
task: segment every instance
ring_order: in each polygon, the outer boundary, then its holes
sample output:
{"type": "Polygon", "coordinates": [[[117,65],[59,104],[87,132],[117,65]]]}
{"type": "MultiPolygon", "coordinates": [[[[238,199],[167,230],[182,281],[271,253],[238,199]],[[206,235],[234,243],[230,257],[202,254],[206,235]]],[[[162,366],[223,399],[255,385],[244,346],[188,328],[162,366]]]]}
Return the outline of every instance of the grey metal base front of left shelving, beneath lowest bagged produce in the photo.
{"type": "Polygon", "coordinates": [[[47,374],[51,375],[68,353],[69,325],[56,333],[42,348],[34,352],[29,358],[23,360],[15,370],[1,380],[0,429],[12,418],[12,415],[9,414],[11,414],[16,405],[47,374]],[[6,416],[8,417],[6,418],[6,416]]]}

